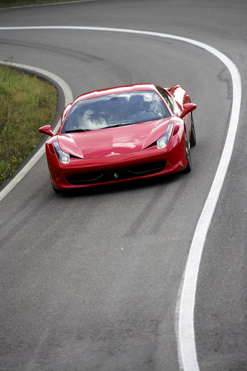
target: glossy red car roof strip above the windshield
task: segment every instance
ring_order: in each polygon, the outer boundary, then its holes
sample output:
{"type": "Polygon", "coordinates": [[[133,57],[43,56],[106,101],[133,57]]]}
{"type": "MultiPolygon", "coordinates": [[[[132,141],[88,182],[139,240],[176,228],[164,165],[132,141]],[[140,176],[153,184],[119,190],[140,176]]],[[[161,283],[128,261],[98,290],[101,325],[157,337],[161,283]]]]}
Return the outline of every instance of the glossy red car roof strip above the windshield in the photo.
{"type": "Polygon", "coordinates": [[[101,90],[94,90],[94,91],[79,95],[74,101],[74,103],[83,101],[84,99],[96,98],[102,95],[125,93],[125,92],[132,92],[132,91],[143,91],[143,90],[156,91],[156,85],[154,84],[134,84],[134,85],[115,86],[113,88],[107,88],[107,89],[101,89],[101,90]]]}

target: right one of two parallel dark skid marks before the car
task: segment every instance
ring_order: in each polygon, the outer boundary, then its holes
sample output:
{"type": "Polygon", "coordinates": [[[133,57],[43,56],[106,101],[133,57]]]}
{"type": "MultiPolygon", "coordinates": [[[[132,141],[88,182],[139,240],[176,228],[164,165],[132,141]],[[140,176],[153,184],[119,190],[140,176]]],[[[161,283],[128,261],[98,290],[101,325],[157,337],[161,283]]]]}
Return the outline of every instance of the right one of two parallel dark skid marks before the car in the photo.
{"type": "Polygon", "coordinates": [[[174,193],[173,197],[171,198],[170,202],[163,209],[162,213],[160,214],[160,216],[158,217],[156,222],[153,224],[153,227],[150,229],[149,234],[156,234],[156,233],[159,232],[159,230],[163,226],[164,222],[166,221],[167,217],[169,216],[169,214],[173,210],[173,206],[176,204],[179,194],[183,190],[184,186],[188,183],[188,181],[191,180],[191,175],[194,173],[195,170],[196,170],[196,164],[193,166],[193,170],[190,173],[188,173],[187,175],[185,175],[185,177],[183,178],[182,183],[177,188],[177,190],[174,193]]]}

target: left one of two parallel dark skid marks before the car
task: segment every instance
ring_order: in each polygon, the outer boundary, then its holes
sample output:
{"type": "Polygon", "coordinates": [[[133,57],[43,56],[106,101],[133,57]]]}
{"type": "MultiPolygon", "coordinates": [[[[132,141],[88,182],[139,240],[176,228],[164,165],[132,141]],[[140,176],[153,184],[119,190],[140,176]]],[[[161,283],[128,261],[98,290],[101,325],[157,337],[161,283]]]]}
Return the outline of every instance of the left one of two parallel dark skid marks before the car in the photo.
{"type": "Polygon", "coordinates": [[[131,225],[129,230],[126,232],[124,237],[134,237],[137,233],[138,228],[141,227],[141,225],[144,223],[144,221],[147,219],[148,214],[150,211],[154,208],[160,197],[162,196],[164,190],[166,189],[167,185],[169,184],[168,181],[171,179],[170,176],[166,178],[167,183],[161,184],[156,192],[151,197],[151,200],[148,202],[146,207],[143,209],[141,214],[137,217],[137,219],[134,221],[134,223],[131,225]]]}

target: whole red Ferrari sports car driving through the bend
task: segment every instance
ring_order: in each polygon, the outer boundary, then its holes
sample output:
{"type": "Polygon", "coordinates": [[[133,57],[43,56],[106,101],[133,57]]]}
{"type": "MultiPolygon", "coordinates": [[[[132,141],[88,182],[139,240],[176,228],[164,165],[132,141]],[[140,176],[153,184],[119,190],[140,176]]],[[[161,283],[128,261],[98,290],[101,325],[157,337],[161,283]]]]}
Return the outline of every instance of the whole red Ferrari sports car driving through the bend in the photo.
{"type": "Polygon", "coordinates": [[[196,144],[188,92],[180,85],[119,86],[80,95],[50,135],[46,156],[54,191],[190,171],[196,144]]]}

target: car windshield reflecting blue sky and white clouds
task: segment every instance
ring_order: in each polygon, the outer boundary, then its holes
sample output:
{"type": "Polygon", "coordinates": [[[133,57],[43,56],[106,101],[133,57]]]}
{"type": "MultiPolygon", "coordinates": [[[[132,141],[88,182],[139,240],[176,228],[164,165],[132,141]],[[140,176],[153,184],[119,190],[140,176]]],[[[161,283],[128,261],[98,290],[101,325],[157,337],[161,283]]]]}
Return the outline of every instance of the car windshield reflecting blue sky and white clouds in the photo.
{"type": "Polygon", "coordinates": [[[131,125],[170,116],[166,105],[154,91],[103,95],[74,104],[62,132],[82,132],[131,125]]]}

